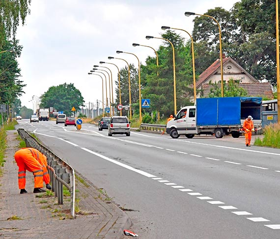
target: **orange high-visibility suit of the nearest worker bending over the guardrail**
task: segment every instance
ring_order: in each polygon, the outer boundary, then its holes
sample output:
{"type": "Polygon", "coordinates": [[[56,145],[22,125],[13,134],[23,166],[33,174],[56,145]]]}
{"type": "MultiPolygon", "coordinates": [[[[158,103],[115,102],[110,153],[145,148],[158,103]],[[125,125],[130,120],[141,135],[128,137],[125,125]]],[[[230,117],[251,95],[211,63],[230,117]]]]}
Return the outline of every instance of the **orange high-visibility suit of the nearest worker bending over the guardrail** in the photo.
{"type": "Polygon", "coordinates": [[[20,189],[25,189],[26,170],[34,175],[34,188],[42,188],[43,185],[43,166],[33,156],[32,152],[27,149],[20,149],[15,153],[15,160],[19,167],[18,183],[20,189]]]}

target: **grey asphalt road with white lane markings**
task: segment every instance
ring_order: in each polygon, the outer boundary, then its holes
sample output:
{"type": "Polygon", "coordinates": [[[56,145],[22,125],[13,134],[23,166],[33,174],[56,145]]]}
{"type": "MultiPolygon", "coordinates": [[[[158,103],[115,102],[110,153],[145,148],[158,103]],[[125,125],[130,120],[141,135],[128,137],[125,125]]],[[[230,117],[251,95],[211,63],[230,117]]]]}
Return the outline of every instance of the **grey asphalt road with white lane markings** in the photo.
{"type": "Polygon", "coordinates": [[[238,140],[29,123],[44,145],[104,188],[143,239],[279,239],[280,150],[238,140]]]}

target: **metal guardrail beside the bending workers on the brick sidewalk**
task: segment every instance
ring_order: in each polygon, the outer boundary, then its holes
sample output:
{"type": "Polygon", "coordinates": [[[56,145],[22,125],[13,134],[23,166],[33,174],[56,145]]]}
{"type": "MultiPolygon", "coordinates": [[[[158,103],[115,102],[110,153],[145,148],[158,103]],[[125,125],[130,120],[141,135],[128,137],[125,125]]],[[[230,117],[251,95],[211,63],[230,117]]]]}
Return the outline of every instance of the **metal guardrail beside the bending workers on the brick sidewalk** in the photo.
{"type": "Polygon", "coordinates": [[[24,129],[18,129],[18,133],[23,140],[25,140],[26,147],[31,147],[39,150],[47,157],[48,172],[50,174],[52,182],[52,190],[55,192],[58,204],[63,204],[63,185],[66,186],[71,193],[70,196],[70,212],[72,216],[75,216],[75,171],[66,163],[60,159],[51,150],[40,144],[37,139],[32,137],[24,129]]]}

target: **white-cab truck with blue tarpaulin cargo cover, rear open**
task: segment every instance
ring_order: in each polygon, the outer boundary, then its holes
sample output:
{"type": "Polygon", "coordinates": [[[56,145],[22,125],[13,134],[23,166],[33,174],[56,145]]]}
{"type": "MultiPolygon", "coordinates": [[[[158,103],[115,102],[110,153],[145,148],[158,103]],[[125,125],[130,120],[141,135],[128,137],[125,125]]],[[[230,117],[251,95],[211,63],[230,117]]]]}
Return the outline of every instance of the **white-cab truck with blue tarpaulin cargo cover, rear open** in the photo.
{"type": "Polygon", "coordinates": [[[243,133],[243,122],[251,115],[254,128],[261,127],[261,97],[199,98],[195,106],[182,107],[174,119],[167,123],[167,133],[172,138],[196,134],[215,135],[222,138],[231,134],[238,138],[243,133]]]}

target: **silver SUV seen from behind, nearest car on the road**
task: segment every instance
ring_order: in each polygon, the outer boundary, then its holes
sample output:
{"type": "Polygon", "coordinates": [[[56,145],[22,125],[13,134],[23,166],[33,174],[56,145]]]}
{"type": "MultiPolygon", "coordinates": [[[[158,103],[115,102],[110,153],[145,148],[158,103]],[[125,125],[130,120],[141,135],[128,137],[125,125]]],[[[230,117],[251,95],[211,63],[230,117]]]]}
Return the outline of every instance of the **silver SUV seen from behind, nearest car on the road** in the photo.
{"type": "Polygon", "coordinates": [[[112,116],[109,122],[108,135],[126,134],[130,136],[130,122],[126,116],[112,116]]]}

